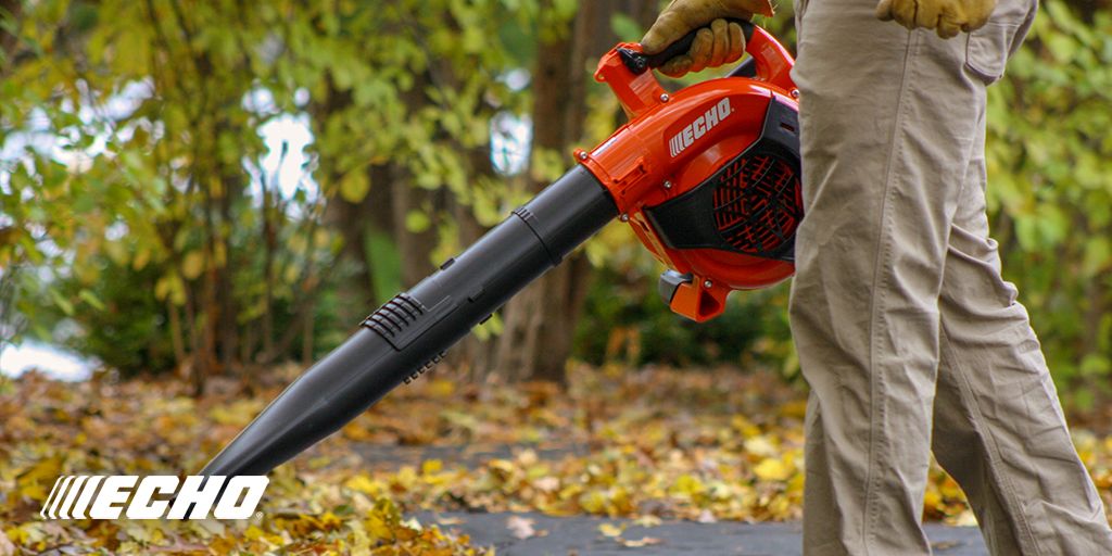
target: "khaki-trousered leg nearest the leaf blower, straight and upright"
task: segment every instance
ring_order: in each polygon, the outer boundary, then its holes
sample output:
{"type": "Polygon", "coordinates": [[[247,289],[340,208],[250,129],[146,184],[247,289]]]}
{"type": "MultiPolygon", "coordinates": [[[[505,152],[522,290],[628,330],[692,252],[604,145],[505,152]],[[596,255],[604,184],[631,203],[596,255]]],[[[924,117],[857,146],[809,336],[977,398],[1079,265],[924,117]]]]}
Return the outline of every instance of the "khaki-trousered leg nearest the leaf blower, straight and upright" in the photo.
{"type": "Polygon", "coordinates": [[[804,554],[914,555],[922,532],[951,222],[984,82],[966,43],[811,0],[801,90],[805,217],[791,322],[812,388],[804,554]]]}

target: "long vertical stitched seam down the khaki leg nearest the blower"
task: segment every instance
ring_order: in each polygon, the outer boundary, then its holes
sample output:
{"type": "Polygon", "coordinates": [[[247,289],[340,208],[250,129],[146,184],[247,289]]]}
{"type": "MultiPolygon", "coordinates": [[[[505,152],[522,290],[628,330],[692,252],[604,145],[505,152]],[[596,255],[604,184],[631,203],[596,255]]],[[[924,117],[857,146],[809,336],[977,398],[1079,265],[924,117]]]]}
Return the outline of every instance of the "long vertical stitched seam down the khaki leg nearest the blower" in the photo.
{"type": "Polygon", "coordinates": [[[895,173],[895,160],[903,155],[903,142],[896,142],[900,137],[904,135],[903,121],[904,111],[906,109],[905,97],[910,86],[909,72],[912,71],[912,57],[914,56],[915,47],[917,46],[915,39],[917,34],[915,32],[907,32],[907,40],[905,43],[903,67],[900,76],[900,91],[896,98],[895,108],[895,119],[893,122],[893,130],[891,137],[891,150],[888,151],[888,158],[885,163],[884,170],[884,191],[881,201],[881,216],[878,219],[877,229],[877,244],[878,249],[873,259],[873,297],[870,307],[870,330],[868,330],[868,341],[870,341],[870,394],[872,399],[870,400],[870,427],[868,427],[868,466],[865,471],[865,519],[863,520],[862,527],[862,539],[864,542],[865,554],[872,554],[873,543],[876,538],[876,527],[875,522],[880,517],[880,505],[876,504],[875,493],[880,488],[877,483],[880,481],[881,473],[877,471],[876,457],[880,450],[880,445],[884,441],[883,434],[878,431],[878,419],[883,421],[886,413],[885,406],[886,397],[883,393],[886,390],[884,384],[884,377],[881,373],[877,373],[877,339],[876,332],[880,328],[878,321],[881,320],[880,311],[881,308],[885,306],[884,298],[887,292],[887,275],[882,272],[885,265],[883,261],[891,259],[892,252],[892,236],[887,234],[890,230],[887,220],[891,217],[890,202],[892,200],[892,192],[894,187],[894,173],[895,173]]]}

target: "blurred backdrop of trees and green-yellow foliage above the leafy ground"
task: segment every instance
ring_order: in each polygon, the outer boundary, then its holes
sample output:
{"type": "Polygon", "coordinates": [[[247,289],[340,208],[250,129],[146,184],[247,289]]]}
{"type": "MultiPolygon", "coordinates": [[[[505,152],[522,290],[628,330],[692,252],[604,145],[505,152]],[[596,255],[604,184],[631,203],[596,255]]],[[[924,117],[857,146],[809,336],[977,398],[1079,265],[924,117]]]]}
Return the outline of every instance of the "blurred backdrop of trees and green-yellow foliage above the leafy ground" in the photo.
{"type": "MultiPolygon", "coordinates": [[[[1112,16],[1048,0],[990,92],[990,199],[1068,403],[1112,374],[1112,16]]],[[[0,1],[0,348],[36,338],[198,394],[310,361],[623,121],[590,79],[656,2],[0,1]]],[[[790,6],[762,21],[794,43],[790,6]]],[[[684,82],[717,75],[707,71],[684,82]]],[[[695,326],[613,225],[451,354],[795,374],[786,288],[695,326]]]]}

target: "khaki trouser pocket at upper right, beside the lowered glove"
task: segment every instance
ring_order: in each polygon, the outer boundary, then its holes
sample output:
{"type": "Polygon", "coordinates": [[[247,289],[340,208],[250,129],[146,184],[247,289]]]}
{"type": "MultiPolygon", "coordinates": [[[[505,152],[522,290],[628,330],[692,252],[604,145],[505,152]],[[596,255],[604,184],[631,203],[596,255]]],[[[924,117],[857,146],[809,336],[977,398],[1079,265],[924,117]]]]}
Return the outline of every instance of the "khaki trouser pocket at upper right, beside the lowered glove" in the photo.
{"type": "Polygon", "coordinates": [[[1026,37],[1037,9],[1034,1],[1001,2],[984,27],[969,33],[965,69],[984,85],[1004,77],[1004,66],[1026,37]]]}

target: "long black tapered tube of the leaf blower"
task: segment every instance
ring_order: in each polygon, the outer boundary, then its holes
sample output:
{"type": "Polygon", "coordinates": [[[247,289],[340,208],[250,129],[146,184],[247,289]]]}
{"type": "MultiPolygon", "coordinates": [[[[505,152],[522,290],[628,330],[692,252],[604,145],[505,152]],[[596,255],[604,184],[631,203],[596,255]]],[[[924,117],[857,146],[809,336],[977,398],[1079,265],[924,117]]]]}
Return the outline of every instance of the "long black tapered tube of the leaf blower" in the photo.
{"type": "Polygon", "coordinates": [[[444,351],[617,216],[576,166],[440,270],[376,310],[201,470],[265,475],[440,360],[444,351]]]}

